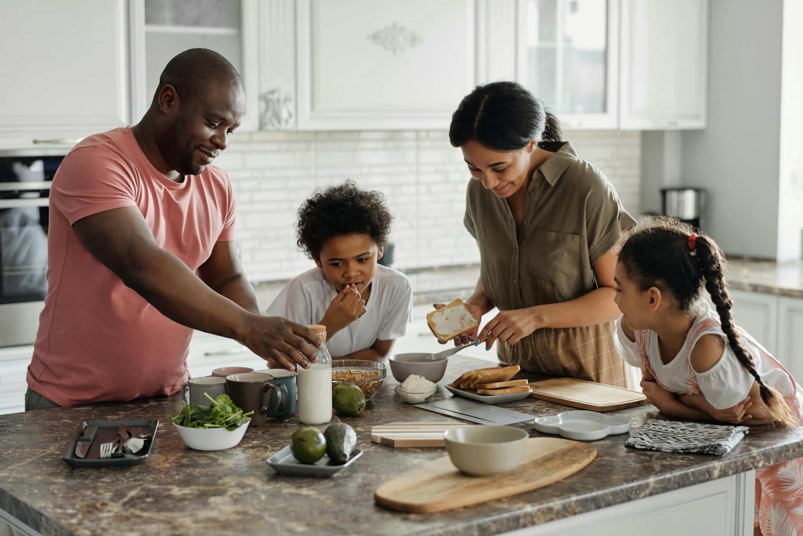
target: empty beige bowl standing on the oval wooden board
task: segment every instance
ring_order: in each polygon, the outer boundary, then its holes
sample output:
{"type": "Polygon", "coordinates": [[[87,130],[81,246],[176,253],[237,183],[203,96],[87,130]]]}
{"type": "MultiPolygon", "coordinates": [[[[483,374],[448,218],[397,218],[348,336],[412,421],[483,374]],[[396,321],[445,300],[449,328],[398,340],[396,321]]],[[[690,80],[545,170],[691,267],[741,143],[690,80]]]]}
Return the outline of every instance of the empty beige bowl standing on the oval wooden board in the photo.
{"type": "Polygon", "coordinates": [[[524,457],[529,434],[512,426],[475,424],[447,430],[443,437],[454,467],[484,477],[516,469],[524,457]]]}

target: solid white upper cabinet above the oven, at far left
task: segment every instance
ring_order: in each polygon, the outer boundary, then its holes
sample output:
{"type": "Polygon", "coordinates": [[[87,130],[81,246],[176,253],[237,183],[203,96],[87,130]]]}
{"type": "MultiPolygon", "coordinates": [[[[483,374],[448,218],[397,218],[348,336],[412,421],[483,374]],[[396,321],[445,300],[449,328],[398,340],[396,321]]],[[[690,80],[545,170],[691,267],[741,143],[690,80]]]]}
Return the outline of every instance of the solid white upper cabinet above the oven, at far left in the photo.
{"type": "Polygon", "coordinates": [[[128,123],[125,0],[2,2],[0,148],[69,148],[128,123]]]}

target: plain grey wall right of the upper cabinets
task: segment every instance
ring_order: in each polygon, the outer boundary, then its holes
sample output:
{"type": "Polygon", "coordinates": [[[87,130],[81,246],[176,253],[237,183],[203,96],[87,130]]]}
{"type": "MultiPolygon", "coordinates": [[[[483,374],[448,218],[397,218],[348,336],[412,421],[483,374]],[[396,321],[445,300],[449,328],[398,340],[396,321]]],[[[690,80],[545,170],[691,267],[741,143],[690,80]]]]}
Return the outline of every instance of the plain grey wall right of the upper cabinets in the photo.
{"type": "Polygon", "coordinates": [[[710,191],[707,232],[728,254],[777,256],[782,6],[711,0],[707,128],[683,132],[681,173],[710,191]]]}

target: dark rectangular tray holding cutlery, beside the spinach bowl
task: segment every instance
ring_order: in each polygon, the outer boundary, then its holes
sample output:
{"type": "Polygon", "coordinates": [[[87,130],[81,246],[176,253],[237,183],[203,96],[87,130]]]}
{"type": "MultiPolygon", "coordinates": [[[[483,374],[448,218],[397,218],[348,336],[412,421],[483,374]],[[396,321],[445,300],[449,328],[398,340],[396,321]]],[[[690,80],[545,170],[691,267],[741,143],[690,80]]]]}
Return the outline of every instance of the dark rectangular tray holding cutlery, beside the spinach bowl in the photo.
{"type": "Polygon", "coordinates": [[[145,463],[145,460],[150,456],[150,451],[153,448],[153,441],[156,440],[156,431],[159,428],[159,421],[156,419],[129,419],[129,420],[84,420],[79,427],[72,434],[70,442],[67,443],[67,448],[61,459],[73,469],[81,467],[125,467],[128,465],[140,465],[145,463]],[[121,458],[100,458],[100,444],[108,441],[114,441],[117,438],[117,428],[120,424],[125,424],[128,427],[141,426],[147,428],[150,433],[150,438],[145,440],[145,445],[142,445],[140,452],[136,454],[124,454],[121,458]],[[92,441],[92,446],[89,447],[87,456],[79,458],[75,456],[75,444],[78,443],[78,438],[84,432],[84,428],[94,425],[98,427],[95,435],[95,440],[92,441]]]}

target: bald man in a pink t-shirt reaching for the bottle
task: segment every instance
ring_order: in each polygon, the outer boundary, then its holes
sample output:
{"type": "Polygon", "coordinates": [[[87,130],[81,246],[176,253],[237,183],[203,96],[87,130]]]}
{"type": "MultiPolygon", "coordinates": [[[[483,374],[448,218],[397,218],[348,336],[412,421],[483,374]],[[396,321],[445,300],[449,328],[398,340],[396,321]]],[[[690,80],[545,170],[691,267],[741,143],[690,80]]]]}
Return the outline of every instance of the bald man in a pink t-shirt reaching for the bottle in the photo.
{"type": "Polygon", "coordinates": [[[238,260],[234,197],[212,162],[244,108],[234,67],[192,49],[167,64],[139,124],[90,136],[64,158],[26,410],[173,394],[194,329],[271,366],[315,361],[312,331],[259,315],[238,260]]]}

